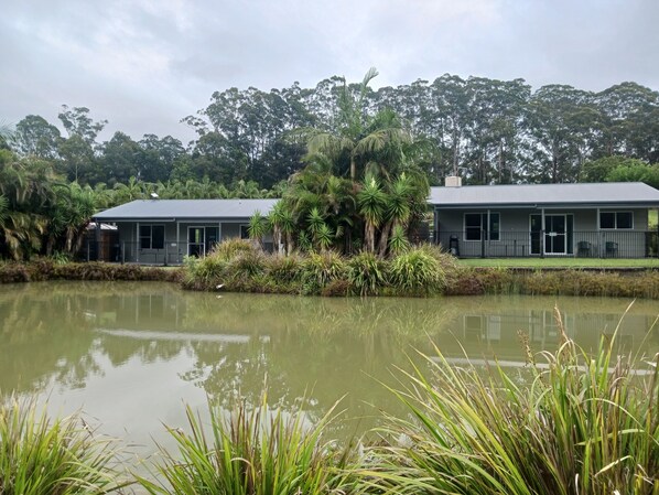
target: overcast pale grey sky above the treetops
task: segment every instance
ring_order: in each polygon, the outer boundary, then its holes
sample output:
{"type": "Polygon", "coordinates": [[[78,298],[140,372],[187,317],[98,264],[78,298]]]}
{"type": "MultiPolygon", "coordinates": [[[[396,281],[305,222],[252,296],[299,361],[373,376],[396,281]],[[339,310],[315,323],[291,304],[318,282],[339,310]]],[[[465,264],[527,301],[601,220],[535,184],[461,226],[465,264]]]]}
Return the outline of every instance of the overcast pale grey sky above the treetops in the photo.
{"type": "Polygon", "coordinates": [[[62,104],[121,130],[193,137],[215,90],[442,74],[533,88],[659,89],[659,0],[0,0],[0,123],[62,104]]]}

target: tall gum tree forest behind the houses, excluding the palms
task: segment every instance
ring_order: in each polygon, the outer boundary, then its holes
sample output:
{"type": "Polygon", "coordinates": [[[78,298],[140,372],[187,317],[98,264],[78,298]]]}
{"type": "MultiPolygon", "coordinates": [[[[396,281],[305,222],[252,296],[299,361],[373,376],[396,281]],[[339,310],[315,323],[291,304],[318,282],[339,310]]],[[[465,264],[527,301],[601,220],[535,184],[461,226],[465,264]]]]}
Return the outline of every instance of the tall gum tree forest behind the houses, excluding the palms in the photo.
{"type": "MultiPolygon", "coordinates": [[[[305,142],[294,130],[341,125],[344,84],[332,77],[315,88],[216,92],[206,108],[183,119],[197,134],[188,144],[154,134],[136,141],[120,131],[98,142],[107,122],[94,120],[87,108],[63,106],[66,136],[30,115],[15,125],[11,148],[52,161],[56,172],[83,185],[206,179],[271,189],[301,168],[305,142]]],[[[356,94],[359,86],[348,88],[356,94]]],[[[612,155],[659,162],[659,93],[635,83],[601,93],[565,85],[533,92],[523,79],[443,75],[432,83],[369,87],[365,96],[363,111],[391,109],[424,140],[420,162],[431,184],[450,173],[469,184],[604,180],[584,165],[612,155]]]]}

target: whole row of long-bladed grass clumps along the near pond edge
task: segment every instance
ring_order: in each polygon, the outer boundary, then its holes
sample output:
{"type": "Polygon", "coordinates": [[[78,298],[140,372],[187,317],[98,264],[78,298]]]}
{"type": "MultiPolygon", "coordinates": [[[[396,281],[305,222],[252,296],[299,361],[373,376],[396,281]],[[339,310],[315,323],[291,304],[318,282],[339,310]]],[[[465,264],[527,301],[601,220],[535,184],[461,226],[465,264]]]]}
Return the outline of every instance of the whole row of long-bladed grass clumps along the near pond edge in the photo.
{"type": "Polygon", "coordinates": [[[615,334],[593,356],[559,329],[559,349],[527,348],[521,376],[496,363],[455,367],[439,349],[399,372],[391,394],[409,413],[382,417],[365,443],[327,438],[333,411],[312,422],[303,402],[282,411],[267,395],[230,413],[210,402],[208,420],[187,408],[187,427],[166,430],[176,451],[144,461],[148,478],[118,478],[115,446],[79,417],[47,420],[10,398],[0,402],[0,493],[127,483],[160,495],[658,493],[659,356],[639,373],[640,361],[614,357],[615,334]]]}

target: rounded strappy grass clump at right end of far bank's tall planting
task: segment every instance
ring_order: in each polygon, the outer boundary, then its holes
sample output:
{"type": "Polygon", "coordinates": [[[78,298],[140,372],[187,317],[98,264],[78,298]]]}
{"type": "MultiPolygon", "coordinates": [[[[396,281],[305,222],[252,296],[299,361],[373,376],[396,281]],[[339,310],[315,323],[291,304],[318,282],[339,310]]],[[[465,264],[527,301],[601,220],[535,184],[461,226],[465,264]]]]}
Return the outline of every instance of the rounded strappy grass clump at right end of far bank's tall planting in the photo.
{"type": "Polygon", "coordinates": [[[402,293],[430,295],[444,290],[446,276],[435,257],[423,248],[413,248],[393,258],[390,282],[402,293]]]}

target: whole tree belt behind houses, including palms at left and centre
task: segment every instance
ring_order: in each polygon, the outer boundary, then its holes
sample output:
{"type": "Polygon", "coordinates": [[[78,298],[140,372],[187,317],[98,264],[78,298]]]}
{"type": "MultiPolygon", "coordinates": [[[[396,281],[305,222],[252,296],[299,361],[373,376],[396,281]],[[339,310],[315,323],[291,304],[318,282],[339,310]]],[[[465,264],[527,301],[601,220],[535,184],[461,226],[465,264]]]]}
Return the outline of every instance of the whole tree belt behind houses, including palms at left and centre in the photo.
{"type": "MultiPolygon", "coordinates": [[[[289,249],[355,244],[385,256],[423,215],[428,185],[642,181],[659,187],[659,93],[599,93],[523,79],[381,87],[344,78],[315,88],[216,92],[182,122],[184,144],[139,141],[85,107],[60,127],[29,115],[0,127],[0,257],[73,252],[96,209],[148,197],[283,197],[276,237],[289,249]],[[299,239],[289,239],[292,232],[299,239]]],[[[256,220],[252,230],[263,227],[256,220]]]]}

